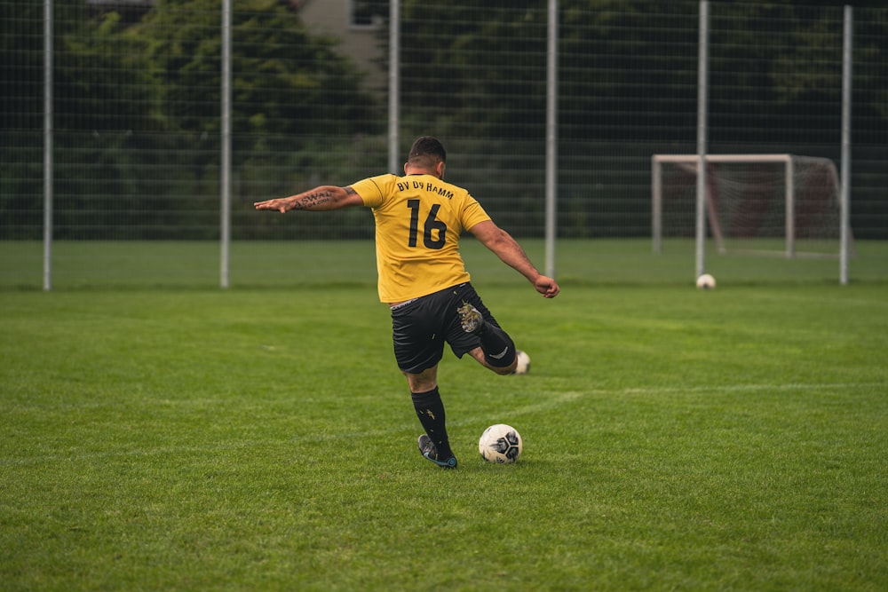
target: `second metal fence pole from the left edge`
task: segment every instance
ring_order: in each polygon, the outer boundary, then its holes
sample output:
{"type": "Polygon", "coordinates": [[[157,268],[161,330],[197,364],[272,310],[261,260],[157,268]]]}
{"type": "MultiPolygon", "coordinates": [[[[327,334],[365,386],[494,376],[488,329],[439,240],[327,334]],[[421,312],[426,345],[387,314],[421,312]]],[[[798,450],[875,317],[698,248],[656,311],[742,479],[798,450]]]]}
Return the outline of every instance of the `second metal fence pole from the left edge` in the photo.
{"type": "Polygon", "coordinates": [[[231,0],[222,0],[222,154],[220,177],[219,286],[228,288],[231,252],[231,0]]]}

